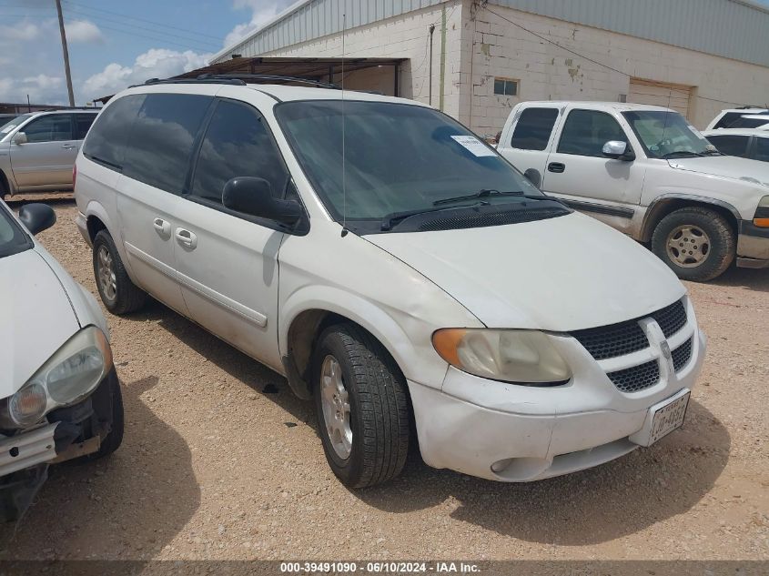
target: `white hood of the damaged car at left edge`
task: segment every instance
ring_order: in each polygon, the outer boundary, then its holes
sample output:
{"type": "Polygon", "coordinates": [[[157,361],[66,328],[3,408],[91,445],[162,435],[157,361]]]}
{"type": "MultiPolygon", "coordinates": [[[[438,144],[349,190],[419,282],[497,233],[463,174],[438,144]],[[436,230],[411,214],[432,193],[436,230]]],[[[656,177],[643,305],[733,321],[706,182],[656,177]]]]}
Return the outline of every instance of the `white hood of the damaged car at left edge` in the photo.
{"type": "Polygon", "coordinates": [[[0,258],[0,398],[80,328],[59,278],[33,249],[0,258]]]}

